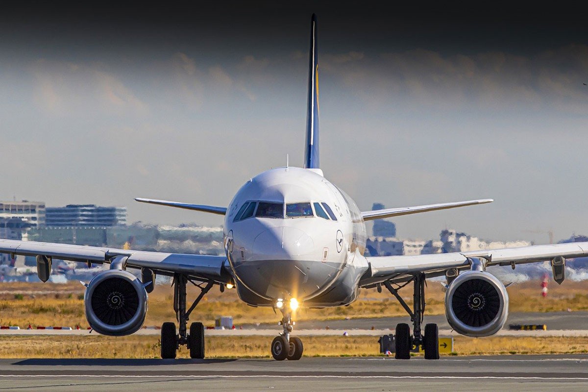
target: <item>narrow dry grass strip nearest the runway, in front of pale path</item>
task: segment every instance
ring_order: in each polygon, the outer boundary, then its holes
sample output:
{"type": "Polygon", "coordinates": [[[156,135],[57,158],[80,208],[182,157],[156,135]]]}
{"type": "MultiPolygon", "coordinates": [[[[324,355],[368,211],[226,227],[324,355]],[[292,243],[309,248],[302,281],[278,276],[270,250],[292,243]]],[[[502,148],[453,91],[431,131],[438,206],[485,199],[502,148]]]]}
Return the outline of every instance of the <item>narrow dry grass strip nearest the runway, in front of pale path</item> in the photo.
{"type": "MultiPolygon", "coordinates": [[[[207,358],[269,357],[269,336],[206,337],[207,358]]],[[[305,336],[304,355],[380,356],[377,337],[305,336]]],[[[588,353],[588,337],[457,336],[453,355],[588,353]]],[[[159,358],[159,337],[131,335],[0,336],[0,358],[159,358]]],[[[178,358],[189,358],[181,347],[178,358]]]]}

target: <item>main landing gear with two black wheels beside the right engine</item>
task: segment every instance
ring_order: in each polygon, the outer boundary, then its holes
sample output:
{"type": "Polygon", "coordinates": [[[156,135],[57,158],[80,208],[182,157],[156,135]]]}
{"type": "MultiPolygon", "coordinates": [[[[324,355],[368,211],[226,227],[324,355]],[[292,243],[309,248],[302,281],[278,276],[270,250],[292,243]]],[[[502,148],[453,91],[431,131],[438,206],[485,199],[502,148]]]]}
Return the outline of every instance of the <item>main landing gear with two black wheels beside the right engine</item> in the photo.
{"type": "Polygon", "coordinates": [[[425,333],[422,334],[421,324],[425,314],[425,274],[416,274],[412,280],[400,286],[399,289],[413,282],[413,309],[406,304],[405,300],[400,297],[397,289],[392,287],[392,283],[386,281],[384,286],[400,302],[402,307],[410,316],[413,323],[413,335],[410,336],[410,327],[408,324],[400,323],[396,326],[396,359],[410,359],[410,350],[422,347],[425,350],[425,359],[439,359],[439,329],[437,324],[426,324],[425,333]]]}

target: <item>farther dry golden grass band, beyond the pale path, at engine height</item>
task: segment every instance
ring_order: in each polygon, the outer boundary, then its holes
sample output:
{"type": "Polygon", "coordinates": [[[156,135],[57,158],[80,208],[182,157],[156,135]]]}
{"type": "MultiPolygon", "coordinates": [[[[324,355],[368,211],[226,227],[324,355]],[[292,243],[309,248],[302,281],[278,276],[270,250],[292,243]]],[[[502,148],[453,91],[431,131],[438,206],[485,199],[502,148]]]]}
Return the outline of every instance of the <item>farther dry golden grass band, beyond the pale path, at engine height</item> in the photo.
{"type": "MultiPolygon", "coordinates": [[[[2,283],[0,284],[0,325],[26,327],[36,326],[88,326],[83,309],[84,287],[79,283],[2,283]]],[[[564,282],[561,286],[550,283],[549,295],[540,296],[539,281],[513,284],[508,289],[510,311],[562,311],[588,310],[588,283],[564,282]]],[[[189,287],[189,300],[199,290],[189,287]]],[[[412,286],[400,290],[410,303],[412,286]]],[[[426,314],[443,314],[444,287],[438,282],[429,282],[426,297],[426,314]]],[[[158,285],[149,294],[149,311],[145,325],[159,326],[164,321],[175,320],[172,309],[173,291],[169,286],[158,285]]],[[[333,320],[345,317],[405,316],[406,313],[386,290],[363,290],[360,298],[350,306],[326,309],[301,309],[294,320],[333,320]]],[[[243,323],[277,322],[280,316],[269,308],[254,308],[242,303],[235,290],[220,293],[212,289],[193,311],[193,321],[202,321],[212,326],[215,317],[232,316],[236,326],[243,323]]]]}

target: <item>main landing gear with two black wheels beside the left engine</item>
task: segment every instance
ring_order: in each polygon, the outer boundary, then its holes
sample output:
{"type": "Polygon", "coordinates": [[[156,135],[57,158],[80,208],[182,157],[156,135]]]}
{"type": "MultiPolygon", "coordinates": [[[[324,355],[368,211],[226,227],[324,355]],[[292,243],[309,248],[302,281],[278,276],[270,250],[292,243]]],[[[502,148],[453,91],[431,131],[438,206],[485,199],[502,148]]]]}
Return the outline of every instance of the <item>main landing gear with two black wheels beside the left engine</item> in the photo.
{"type": "Polygon", "coordinates": [[[176,333],[175,323],[163,323],[161,326],[161,357],[163,359],[174,359],[180,345],[185,345],[190,350],[190,357],[204,358],[204,326],[202,323],[190,324],[188,333],[188,320],[192,310],[198,305],[202,297],[213,286],[213,282],[195,283],[183,274],[173,276],[173,310],[179,321],[179,331],[176,333]],[[186,310],[186,285],[188,282],[201,290],[201,293],[192,303],[190,309],[186,310]]]}

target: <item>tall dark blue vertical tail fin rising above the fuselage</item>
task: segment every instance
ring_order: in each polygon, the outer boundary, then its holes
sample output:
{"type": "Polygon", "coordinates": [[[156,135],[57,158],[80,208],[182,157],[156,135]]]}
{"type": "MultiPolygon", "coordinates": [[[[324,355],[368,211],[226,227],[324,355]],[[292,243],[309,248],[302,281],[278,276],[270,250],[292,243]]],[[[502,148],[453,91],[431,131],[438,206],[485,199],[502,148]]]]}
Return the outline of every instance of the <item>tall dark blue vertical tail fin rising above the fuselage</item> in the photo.
{"type": "Polygon", "coordinates": [[[319,169],[319,59],[316,48],[316,15],[310,23],[310,60],[308,75],[308,112],[306,115],[306,148],[304,167],[319,169]]]}

